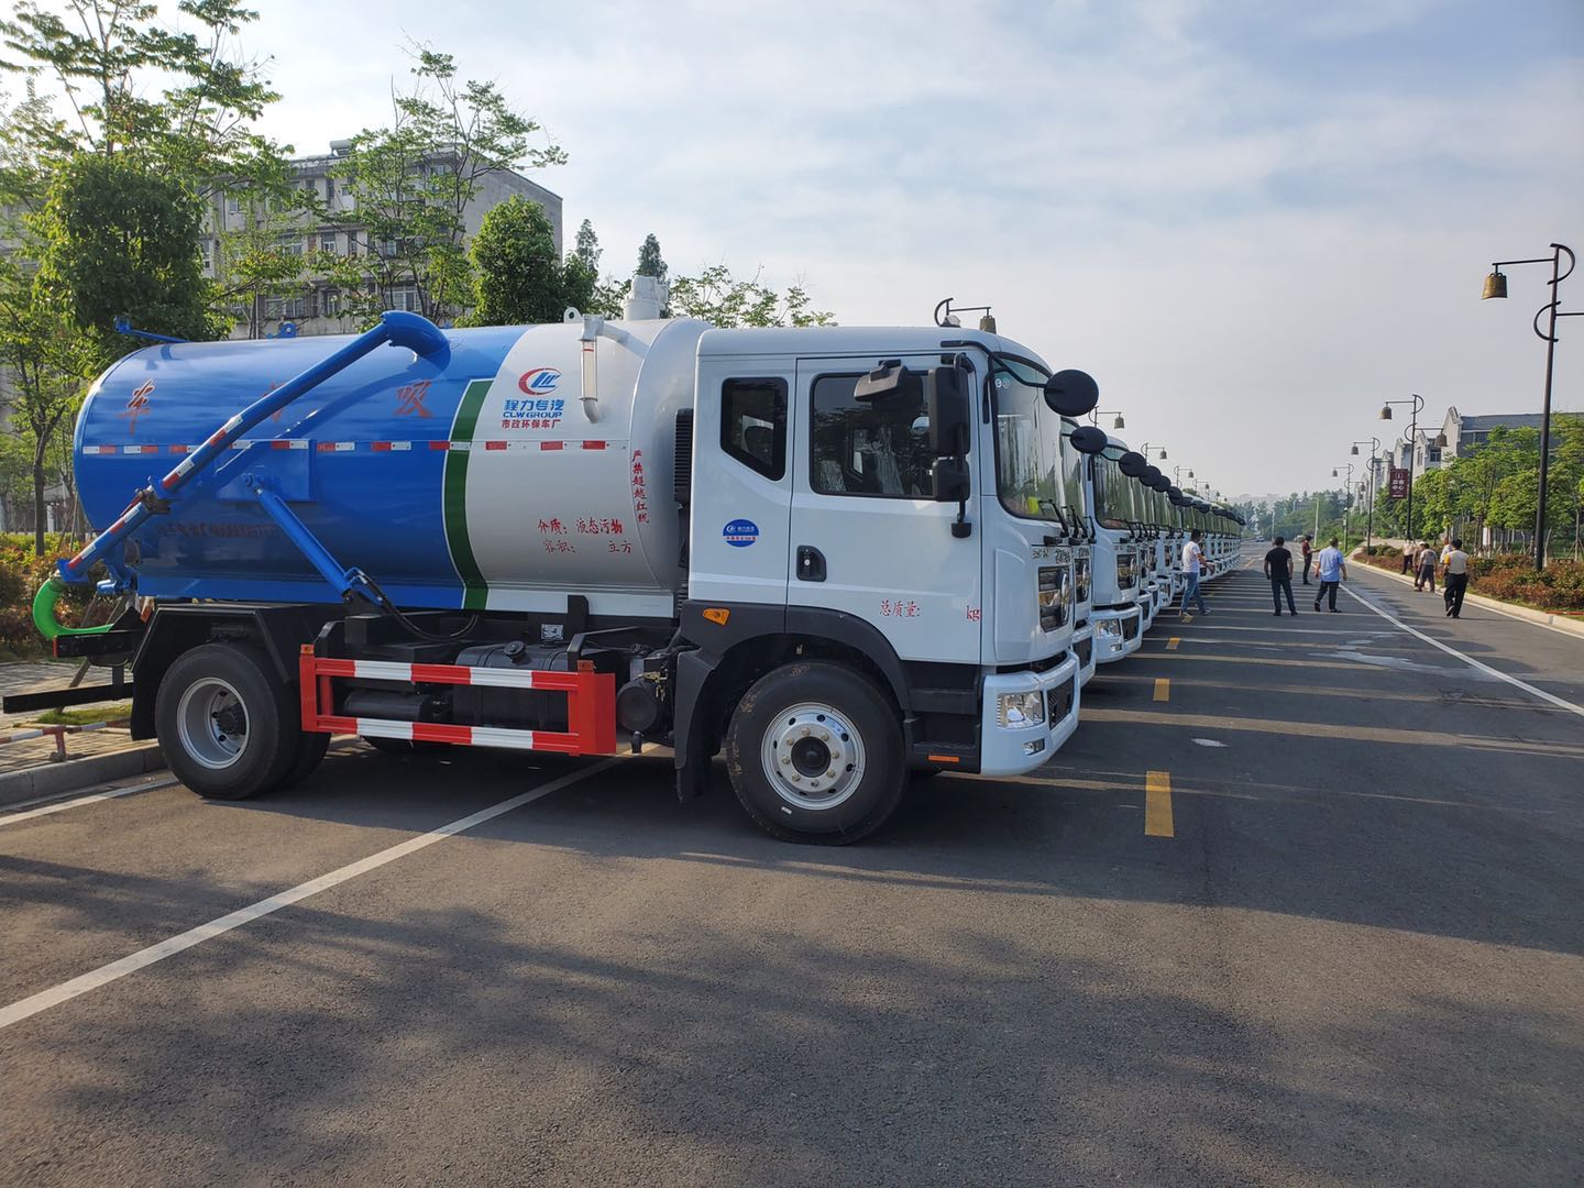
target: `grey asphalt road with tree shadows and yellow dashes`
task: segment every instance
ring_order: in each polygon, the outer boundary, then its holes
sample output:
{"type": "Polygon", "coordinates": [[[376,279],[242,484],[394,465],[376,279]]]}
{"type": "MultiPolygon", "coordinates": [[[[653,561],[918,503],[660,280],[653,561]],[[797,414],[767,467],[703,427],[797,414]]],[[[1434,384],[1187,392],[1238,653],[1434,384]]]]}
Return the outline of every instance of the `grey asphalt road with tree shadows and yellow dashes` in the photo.
{"type": "MultiPolygon", "coordinates": [[[[1584,705],[1584,640],[1354,577],[1584,705]]],[[[1209,600],[847,849],[664,762],[361,748],[0,817],[0,1178],[1578,1183],[1584,713],[1348,594],[1209,600]]]]}

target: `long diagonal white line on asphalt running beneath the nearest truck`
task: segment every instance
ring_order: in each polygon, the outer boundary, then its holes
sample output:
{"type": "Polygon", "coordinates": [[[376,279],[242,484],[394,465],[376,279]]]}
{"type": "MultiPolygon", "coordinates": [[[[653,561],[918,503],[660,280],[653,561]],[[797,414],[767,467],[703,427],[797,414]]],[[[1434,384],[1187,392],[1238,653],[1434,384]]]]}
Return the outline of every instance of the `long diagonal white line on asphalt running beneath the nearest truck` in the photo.
{"type": "Polygon", "coordinates": [[[48,1011],[52,1006],[60,1006],[78,995],[86,995],[89,990],[98,990],[101,985],[136,973],[138,969],[146,969],[155,961],[163,961],[166,957],[174,957],[185,949],[192,949],[195,944],[212,941],[215,936],[222,936],[233,928],[241,928],[244,923],[252,923],[263,916],[277,912],[282,908],[290,908],[293,903],[299,903],[310,895],[318,895],[320,892],[337,887],[342,882],[358,878],[360,874],[367,874],[369,871],[379,870],[380,866],[396,862],[398,859],[406,859],[409,854],[417,854],[420,849],[432,846],[436,841],[444,841],[456,833],[466,833],[475,825],[493,821],[494,817],[510,813],[513,808],[521,808],[523,805],[539,800],[540,797],[548,797],[551,792],[558,792],[569,784],[578,782],[580,779],[599,775],[619,762],[619,759],[607,759],[600,763],[594,763],[592,767],[586,767],[581,771],[573,771],[561,776],[559,779],[551,779],[548,784],[542,784],[529,792],[515,795],[510,800],[502,800],[499,805],[491,805],[489,808],[470,813],[466,817],[459,817],[447,825],[429,830],[428,833],[420,833],[417,838],[409,838],[407,841],[391,846],[390,849],[382,849],[379,854],[371,854],[366,859],[360,859],[358,862],[333,870],[329,874],[320,874],[317,879],[301,882],[296,887],[280,892],[279,895],[271,895],[268,900],[260,900],[247,908],[228,912],[217,920],[209,920],[208,923],[200,923],[196,928],[188,928],[187,931],[171,936],[166,941],[150,944],[147,949],[139,949],[135,954],[122,957],[119,961],[101,965],[98,969],[73,977],[70,982],[62,982],[49,990],[41,990],[36,995],[11,1003],[11,1006],[0,1007],[0,1030],[5,1030],[13,1023],[21,1023],[24,1019],[32,1019],[38,1012],[48,1011]]]}

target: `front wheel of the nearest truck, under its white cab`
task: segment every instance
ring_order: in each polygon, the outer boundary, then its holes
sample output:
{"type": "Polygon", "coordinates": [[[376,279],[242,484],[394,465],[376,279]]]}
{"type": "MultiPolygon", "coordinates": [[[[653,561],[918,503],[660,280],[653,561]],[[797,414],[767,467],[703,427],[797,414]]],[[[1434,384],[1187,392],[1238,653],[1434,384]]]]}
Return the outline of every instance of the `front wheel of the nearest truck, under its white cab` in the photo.
{"type": "Polygon", "coordinates": [[[732,714],[725,765],[760,828],[825,846],[884,825],[908,784],[890,697],[870,678],[817,661],[754,683],[732,714]]]}

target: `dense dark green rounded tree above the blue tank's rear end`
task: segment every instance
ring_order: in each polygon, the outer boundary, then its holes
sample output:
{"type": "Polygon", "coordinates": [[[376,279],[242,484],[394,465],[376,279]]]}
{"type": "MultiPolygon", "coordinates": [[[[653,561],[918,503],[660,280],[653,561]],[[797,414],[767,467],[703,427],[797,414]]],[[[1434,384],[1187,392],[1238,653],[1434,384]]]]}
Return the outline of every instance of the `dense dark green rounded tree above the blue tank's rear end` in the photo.
{"type": "Polygon", "coordinates": [[[225,333],[209,310],[201,222],[190,190],[125,155],[76,154],[55,173],[38,220],[44,257],[36,284],[93,344],[95,371],[127,350],[112,329],[117,314],[184,339],[225,333]]]}

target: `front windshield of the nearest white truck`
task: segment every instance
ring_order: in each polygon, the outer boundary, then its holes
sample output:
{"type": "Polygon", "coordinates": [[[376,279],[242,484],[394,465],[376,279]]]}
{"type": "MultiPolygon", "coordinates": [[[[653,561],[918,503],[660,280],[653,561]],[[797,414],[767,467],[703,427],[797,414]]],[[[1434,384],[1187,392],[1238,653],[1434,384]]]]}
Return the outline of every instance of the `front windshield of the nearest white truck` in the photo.
{"type": "Polygon", "coordinates": [[[1001,505],[1015,516],[1063,521],[1083,507],[1083,494],[1077,451],[1063,450],[1061,417],[1045,404],[1049,375],[1006,355],[992,366],[1001,505]]]}

